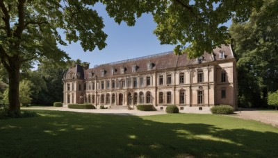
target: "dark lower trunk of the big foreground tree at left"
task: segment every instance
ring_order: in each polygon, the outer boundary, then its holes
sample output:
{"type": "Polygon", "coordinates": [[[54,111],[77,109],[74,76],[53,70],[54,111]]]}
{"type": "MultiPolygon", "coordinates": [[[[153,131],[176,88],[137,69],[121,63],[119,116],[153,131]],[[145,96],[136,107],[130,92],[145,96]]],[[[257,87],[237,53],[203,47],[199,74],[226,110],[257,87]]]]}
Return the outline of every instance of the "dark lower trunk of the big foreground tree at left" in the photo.
{"type": "Polygon", "coordinates": [[[20,114],[20,103],[19,103],[19,80],[20,80],[20,71],[19,65],[11,67],[8,71],[9,76],[9,91],[8,91],[8,100],[9,100],[9,114],[20,114]]]}

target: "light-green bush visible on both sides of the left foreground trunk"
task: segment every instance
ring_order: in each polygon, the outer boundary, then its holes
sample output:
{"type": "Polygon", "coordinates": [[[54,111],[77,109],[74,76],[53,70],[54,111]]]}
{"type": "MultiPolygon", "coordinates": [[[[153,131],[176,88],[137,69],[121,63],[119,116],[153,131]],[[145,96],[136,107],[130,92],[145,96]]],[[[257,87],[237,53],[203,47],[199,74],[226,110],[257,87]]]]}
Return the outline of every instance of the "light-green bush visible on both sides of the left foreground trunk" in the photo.
{"type": "MultiPolygon", "coordinates": [[[[31,91],[32,83],[29,80],[22,80],[19,83],[19,101],[22,105],[31,103],[32,98],[30,97],[32,94],[31,91]]],[[[8,100],[8,89],[3,94],[3,100],[6,104],[9,103],[8,100]]]]}

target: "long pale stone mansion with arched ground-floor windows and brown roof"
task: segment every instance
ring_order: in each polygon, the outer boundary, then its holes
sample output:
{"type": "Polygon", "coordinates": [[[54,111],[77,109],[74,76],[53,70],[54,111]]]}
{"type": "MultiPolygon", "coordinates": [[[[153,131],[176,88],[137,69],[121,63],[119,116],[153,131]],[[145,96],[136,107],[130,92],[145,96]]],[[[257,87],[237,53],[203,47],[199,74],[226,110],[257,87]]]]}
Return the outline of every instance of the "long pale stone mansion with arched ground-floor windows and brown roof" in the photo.
{"type": "Polygon", "coordinates": [[[178,105],[202,110],[213,105],[236,108],[236,59],[230,46],[197,59],[173,52],[101,64],[76,64],[63,80],[64,104],[178,105]]]}

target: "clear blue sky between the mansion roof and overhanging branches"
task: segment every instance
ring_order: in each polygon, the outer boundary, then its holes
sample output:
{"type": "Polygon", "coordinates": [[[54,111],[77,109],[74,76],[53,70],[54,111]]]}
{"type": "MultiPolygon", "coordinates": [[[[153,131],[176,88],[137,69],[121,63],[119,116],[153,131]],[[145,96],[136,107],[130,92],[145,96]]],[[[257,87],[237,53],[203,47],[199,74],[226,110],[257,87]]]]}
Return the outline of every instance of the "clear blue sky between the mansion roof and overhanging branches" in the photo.
{"type": "Polygon", "coordinates": [[[104,32],[108,35],[106,39],[107,46],[101,51],[95,49],[92,52],[84,52],[79,42],[59,46],[73,60],[80,59],[82,62],[89,62],[90,67],[94,67],[97,64],[138,58],[174,49],[172,45],[161,45],[156,35],[154,35],[153,30],[156,28],[156,23],[153,21],[152,15],[142,15],[136,21],[136,25],[130,27],[124,22],[120,25],[115,23],[100,3],[97,3],[94,8],[97,9],[99,16],[104,19],[104,32]]]}

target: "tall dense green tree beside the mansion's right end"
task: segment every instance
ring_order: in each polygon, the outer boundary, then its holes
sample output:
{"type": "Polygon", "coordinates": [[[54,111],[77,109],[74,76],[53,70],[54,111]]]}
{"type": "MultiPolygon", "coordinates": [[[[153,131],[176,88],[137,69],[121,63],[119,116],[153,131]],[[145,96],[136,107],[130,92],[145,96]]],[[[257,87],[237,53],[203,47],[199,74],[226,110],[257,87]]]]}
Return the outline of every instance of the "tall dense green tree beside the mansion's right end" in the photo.
{"type": "Polygon", "coordinates": [[[234,22],[230,28],[242,106],[266,106],[268,91],[278,89],[278,1],[264,2],[249,21],[234,22]]]}

